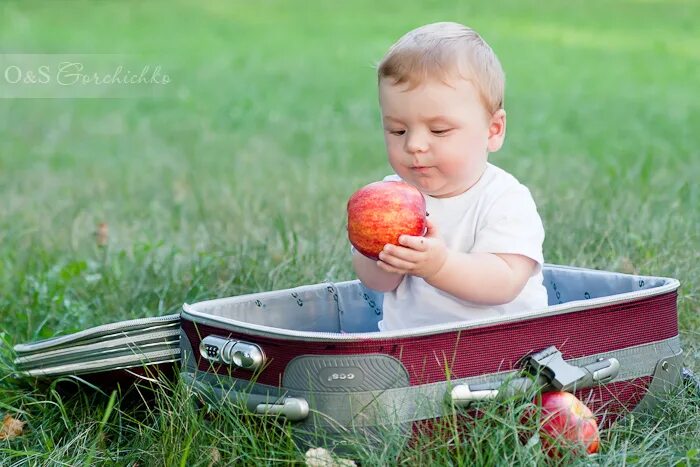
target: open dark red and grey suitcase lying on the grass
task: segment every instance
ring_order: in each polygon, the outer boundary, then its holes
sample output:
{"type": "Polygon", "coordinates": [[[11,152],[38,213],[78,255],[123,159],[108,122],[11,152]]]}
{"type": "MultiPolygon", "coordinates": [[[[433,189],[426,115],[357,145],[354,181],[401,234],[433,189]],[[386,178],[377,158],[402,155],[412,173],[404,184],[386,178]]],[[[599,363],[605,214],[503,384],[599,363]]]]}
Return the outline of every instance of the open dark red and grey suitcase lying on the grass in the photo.
{"type": "Polygon", "coordinates": [[[24,377],[116,379],[179,362],[203,398],[311,432],[410,432],[533,385],[575,392],[605,425],[679,384],[677,280],[553,265],[544,280],[547,308],[498,321],[378,332],[382,294],[355,280],[185,304],[18,345],[15,363],[24,377]]]}

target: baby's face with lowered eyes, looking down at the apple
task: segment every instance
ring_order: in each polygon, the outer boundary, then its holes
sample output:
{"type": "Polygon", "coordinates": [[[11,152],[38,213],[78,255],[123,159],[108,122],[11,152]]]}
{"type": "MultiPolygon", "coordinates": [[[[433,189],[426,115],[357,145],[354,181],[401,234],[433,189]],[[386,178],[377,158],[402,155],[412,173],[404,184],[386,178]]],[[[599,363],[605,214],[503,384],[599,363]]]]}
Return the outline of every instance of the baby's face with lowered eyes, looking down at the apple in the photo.
{"type": "Polygon", "coordinates": [[[379,85],[389,163],[423,193],[464,193],[484,172],[490,149],[492,122],[478,91],[465,79],[407,89],[387,80],[379,85]]]}

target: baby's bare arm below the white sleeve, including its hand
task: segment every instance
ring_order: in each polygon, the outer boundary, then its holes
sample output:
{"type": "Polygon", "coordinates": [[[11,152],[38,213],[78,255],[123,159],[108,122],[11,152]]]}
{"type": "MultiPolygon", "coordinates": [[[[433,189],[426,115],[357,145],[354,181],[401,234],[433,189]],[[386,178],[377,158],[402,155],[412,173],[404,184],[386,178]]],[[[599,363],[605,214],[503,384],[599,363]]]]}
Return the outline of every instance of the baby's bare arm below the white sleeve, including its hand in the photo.
{"type": "Polygon", "coordinates": [[[430,221],[425,237],[402,235],[399,243],[402,246],[384,247],[377,268],[387,274],[422,277],[433,287],[483,305],[513,301],[537,266],[523,255],[448,250],[430,221]]]}

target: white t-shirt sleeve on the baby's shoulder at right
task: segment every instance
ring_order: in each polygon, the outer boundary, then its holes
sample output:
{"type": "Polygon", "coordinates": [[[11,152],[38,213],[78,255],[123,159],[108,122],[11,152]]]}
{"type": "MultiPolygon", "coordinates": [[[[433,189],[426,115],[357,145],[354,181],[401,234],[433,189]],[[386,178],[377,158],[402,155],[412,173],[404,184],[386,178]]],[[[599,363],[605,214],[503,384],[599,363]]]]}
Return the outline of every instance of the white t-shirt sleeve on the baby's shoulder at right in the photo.
{"type": "Polygon", "coordinates": [[[524,185],[501,194],[479,224],[472,252],[518,254],[544,264],[542,219],[524,185]]]}

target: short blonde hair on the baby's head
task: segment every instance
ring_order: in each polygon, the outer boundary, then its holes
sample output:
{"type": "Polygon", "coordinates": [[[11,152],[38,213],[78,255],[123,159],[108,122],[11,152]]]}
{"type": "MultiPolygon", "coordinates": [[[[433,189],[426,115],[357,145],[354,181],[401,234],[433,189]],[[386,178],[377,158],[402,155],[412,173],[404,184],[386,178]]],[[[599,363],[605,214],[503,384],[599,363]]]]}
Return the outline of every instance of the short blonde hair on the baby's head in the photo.
{"type": "Polygon", "coordinates": [[[415,88],[429,79],[458,75],[472,81],[490,113],[502,109],[505,73],[493,49],[471,28],[442,22],[409,31],[377,65],[377,78],[415,88]]]}

